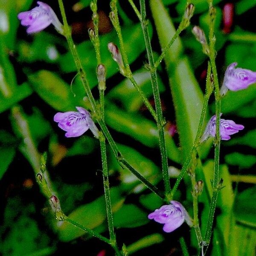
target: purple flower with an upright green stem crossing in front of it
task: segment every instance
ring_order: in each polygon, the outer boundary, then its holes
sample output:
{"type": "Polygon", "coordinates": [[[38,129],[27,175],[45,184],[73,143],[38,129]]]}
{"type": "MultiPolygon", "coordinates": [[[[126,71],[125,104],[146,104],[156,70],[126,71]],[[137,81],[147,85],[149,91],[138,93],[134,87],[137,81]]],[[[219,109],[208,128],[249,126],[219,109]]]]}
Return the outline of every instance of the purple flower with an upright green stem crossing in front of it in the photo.
{"type": "MultiPolygon", "coordinates": [[[[222,113],[220,114],[220,116],[222,113]]],[[[220,119],[220,135],[221,140],[230,140],[230,136],[239,132],[239,130],[243,130],[244,125],[237,125],[232,120],[220,119]]],[[[215,137],[216,134],[216,115],[212,116],[209,120],[207,127],[204,131],[203,136],[201,137],[201,142],[207,140],[209,137],[215,137]]]]}

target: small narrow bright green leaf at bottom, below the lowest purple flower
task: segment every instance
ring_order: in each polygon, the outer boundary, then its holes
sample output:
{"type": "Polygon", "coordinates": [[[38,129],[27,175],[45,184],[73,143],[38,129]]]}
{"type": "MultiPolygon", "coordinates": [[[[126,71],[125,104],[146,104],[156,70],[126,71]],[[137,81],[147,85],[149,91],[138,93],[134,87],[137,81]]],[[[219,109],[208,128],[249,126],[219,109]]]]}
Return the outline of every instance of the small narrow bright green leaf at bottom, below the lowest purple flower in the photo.
{"type": "Polygon", "coordinates": [[[161,234],[151,234],[143,237],[142,239],[134,242],[133,244],[128,245],[127,250],[129,254],[130,253],[132,254],[145,247],[155,245],[155,244],[160,244],[163,241],[164,241],[164,237],[161,234]]]}

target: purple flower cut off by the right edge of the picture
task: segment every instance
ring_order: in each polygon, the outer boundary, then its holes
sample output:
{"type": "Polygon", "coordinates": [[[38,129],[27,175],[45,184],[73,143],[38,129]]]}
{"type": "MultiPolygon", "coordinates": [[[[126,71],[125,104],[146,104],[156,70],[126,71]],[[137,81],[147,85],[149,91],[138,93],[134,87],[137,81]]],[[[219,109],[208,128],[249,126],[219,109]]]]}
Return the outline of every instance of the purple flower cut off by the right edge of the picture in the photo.
{"type": "Polygon", "coordinates": [[[221,86],[221,95],[225,95],[228,90],[243,90],[250,84],[256,83],[256,72],[241,67],[235,68],[236,66],[237,63],[234,62],[227,67],[221,86]]]}

